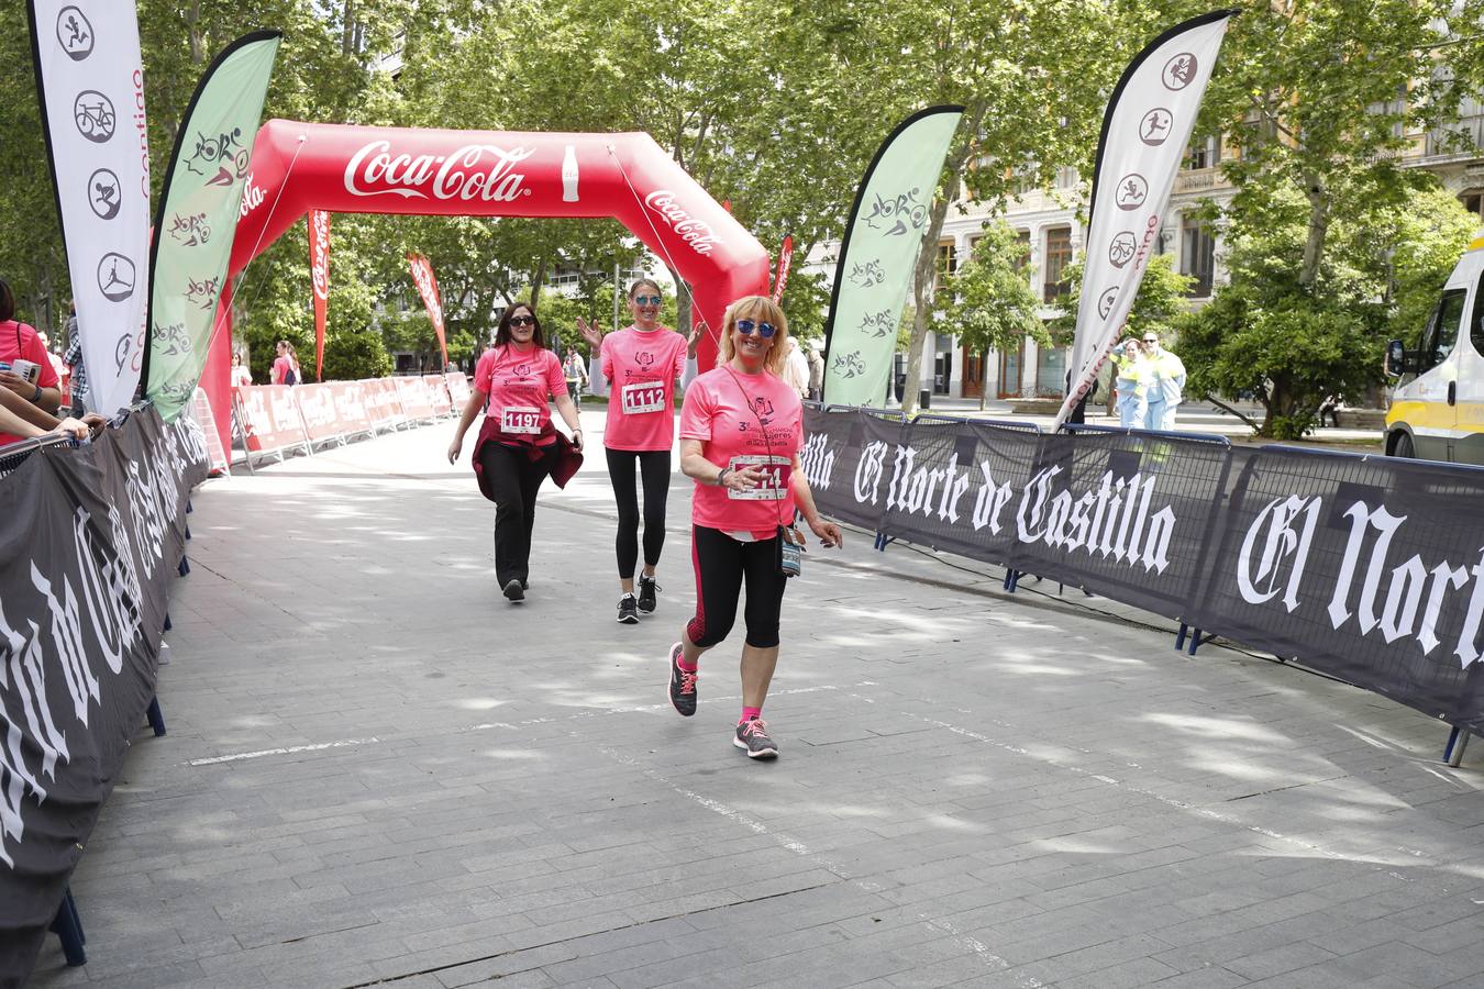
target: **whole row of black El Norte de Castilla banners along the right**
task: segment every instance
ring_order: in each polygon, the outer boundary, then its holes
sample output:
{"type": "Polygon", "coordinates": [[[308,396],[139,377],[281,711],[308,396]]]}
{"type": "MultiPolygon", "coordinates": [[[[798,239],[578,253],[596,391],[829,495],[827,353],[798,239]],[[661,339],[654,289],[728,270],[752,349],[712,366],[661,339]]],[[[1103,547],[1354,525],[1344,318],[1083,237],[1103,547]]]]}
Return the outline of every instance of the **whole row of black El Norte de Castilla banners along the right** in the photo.
{"type": "Polygon", "coordinates": [[[819,510],[1484,730],[1484,470],[806,409],[819,510]]]}

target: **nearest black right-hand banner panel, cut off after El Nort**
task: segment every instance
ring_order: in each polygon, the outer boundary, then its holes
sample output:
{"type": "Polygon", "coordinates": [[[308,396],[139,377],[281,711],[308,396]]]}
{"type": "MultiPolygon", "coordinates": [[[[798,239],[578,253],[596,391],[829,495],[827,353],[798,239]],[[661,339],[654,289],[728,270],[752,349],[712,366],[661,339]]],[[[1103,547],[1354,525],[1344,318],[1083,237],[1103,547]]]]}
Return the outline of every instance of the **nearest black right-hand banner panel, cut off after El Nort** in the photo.
{"type": "Polygon", "coordinates": [[[1232,461],[1190,621],[1484,727],[1484,470],[1279,446],[1232,461]]]}

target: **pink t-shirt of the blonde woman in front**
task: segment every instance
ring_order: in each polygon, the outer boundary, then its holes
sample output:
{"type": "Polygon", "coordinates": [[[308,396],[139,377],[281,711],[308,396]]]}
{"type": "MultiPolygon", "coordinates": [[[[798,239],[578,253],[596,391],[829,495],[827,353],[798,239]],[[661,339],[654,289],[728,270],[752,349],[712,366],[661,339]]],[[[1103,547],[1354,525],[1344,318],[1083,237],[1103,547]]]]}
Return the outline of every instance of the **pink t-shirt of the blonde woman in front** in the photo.
{"type": "Polygon", "coordinates": [[[680,437],[703,440],[717,467],[766,467],[767,482],[730,491],[696,482],[690,520],[723,532],[772,538],[794,520],[792,461],[804,443],[804,406],[776,375],[717,368],[686,388],[680,437]]]}

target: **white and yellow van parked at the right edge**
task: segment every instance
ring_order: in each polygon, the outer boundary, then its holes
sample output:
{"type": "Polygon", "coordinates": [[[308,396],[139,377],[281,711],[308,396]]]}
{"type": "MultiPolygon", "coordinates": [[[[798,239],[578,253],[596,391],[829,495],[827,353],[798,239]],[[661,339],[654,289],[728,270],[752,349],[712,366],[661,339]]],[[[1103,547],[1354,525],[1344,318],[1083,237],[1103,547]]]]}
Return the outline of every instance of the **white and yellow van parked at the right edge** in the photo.
{"type": "Polygon", "coordinates": [[[1417,348],[1386,345],[1396,380],[1386,412],[1386,454],[1484,464],[1484,236],[1442,286],[1417,348]]]}

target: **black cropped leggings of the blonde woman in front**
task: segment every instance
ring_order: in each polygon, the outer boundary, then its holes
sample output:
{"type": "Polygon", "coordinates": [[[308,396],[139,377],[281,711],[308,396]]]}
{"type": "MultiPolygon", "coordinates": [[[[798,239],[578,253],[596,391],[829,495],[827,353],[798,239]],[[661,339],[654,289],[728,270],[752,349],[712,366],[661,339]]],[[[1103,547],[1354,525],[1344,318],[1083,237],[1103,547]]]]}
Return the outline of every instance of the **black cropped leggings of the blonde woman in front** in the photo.
{"type": "Polygon", "coordinates": [[[788,578],[778,572],[778,537],[739,543],[720,529],[693,525],[690,540],[696,563],[696,617],[686,626],[686,636],[703,646],[726,639],[745,584],[746,644],[758,649],[778,645],[778,618],[788,587],[788,578]]]}

